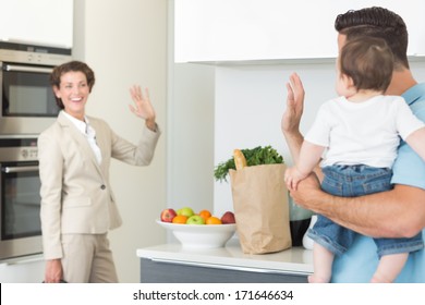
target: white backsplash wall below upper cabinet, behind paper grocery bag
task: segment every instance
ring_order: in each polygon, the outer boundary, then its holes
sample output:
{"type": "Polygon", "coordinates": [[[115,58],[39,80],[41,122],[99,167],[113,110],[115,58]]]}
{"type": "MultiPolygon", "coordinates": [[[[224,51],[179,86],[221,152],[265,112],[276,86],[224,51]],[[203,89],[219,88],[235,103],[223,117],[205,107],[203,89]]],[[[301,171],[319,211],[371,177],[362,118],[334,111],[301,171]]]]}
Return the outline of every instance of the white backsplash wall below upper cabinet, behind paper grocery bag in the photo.
{"type": "MultiPolygon", "coordinates": [[[[231,158],[234,148],[267,145],[291,163],[280,122],[286,109],[286,83],[293,72],[302,77],[306,90],[302,123],[305,130],[319,105],[335,95],[333,63],[329,60],[217,68],[215,164],[231,158]]],[[[215,182],[214,205],[220,212],[233,209],[229,182],[215,182]]]]}

